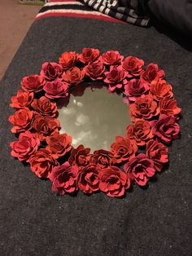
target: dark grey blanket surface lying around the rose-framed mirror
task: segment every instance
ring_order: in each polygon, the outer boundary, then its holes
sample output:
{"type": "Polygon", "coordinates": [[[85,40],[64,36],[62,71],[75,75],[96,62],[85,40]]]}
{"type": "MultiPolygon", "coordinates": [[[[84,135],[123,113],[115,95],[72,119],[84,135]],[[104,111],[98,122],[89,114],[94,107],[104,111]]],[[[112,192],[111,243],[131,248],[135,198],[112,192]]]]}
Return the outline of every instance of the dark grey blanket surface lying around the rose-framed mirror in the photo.
{"type": "Polygon", "coordinates": [[[189,49],[154,28],[63,17],[33,24],[0,83],[0,255],[190,255],[191,61],[189,49]],[[50,182],[10,156],[9,104],[21,78],[84,46],[159,64],[183,110],[168,169],[124,199],[52,195],[50,182]]]}

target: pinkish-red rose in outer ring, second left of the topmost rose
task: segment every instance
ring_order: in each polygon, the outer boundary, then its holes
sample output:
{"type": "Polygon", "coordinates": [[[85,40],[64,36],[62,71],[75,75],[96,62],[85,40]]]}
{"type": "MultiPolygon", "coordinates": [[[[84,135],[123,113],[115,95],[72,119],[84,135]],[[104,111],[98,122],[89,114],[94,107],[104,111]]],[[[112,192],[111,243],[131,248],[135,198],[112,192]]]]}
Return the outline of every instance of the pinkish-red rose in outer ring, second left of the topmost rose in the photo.
{"type": "Polygon", "coordinates": [[[63,73],[63,67],[56,62],[45,62],[42,64],[41,77],[47,81],[53,81],[60,78],[63,73]]]}

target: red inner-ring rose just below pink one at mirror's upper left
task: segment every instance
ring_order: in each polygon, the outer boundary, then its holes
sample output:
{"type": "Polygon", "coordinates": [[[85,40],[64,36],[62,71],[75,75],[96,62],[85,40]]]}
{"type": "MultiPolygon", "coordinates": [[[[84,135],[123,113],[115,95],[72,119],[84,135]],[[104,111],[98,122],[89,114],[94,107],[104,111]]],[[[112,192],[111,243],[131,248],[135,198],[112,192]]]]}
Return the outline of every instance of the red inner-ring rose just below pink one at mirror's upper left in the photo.
{"type": "Polygon", "coordinates": [[[57,105],[45,96],[42,96],[40,99],[34,99],[32,107],[41,116],[56,117],[58,114],[57,105]]]}

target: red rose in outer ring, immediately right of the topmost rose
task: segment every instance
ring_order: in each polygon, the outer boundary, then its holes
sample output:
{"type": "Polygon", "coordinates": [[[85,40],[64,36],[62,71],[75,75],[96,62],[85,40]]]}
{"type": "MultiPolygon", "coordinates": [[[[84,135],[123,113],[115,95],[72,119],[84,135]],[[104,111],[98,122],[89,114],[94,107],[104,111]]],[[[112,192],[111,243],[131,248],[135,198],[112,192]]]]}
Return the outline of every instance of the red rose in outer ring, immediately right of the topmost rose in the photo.
{"type": "Polygon", "coordinates": [[[106,65],[119,65],[124,59],[123,55],[120,55],[119,51],[106,51],[100,56],[99,60],[106,65]]]}

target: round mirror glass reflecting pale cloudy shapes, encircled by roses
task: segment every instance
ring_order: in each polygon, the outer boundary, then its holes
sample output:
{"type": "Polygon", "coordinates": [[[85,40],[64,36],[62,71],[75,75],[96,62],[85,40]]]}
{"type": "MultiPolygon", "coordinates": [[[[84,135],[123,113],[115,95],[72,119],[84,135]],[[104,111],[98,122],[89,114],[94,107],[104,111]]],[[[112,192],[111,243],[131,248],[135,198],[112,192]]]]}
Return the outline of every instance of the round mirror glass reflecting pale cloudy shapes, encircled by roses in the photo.
{"type": "Polygon", "coordinates": [[[109,93],[106,87],[76,86],[68,102],[59,103],[60,134],[72,136],[76,148],[83,144],[91,148],[110,150],[117,135],[125,135],[131,123],[129,106],[122,95],[109,93]],[[83,88],[86,88],[82,90],[83,88]]]}

